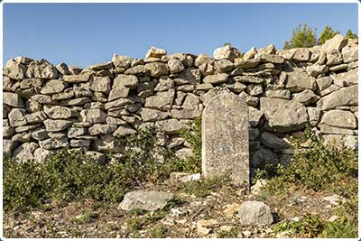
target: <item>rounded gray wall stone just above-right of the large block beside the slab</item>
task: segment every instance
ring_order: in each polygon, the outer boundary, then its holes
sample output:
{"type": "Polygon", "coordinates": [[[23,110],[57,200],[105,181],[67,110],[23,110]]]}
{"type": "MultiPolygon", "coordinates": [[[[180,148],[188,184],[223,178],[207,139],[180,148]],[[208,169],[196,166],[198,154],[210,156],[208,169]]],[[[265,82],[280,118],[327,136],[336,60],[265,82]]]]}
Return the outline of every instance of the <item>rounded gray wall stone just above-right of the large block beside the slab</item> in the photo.
{"type": "Polygon", "coordinates": [[[300,92],[304,89],[315,90],[316,79],[308,75],[305,70],[294,69],[292,72],[288,72],[286,88],[292,92],[300,92]]]}

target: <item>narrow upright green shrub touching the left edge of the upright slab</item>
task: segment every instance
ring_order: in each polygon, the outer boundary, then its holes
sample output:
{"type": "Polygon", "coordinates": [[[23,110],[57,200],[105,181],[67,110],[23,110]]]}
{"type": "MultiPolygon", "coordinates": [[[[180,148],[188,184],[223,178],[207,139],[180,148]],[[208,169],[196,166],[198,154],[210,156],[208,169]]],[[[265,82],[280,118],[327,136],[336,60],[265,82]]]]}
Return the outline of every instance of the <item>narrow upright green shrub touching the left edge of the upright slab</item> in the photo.
{"type": "Polygon", "coordinates": [[[193,156],[179,163],[179,170],[188,173],[198,173],[202,166],[202,119],[195,118],[189,129],[182,130],[180,136],[190,144],[193,156]]]}

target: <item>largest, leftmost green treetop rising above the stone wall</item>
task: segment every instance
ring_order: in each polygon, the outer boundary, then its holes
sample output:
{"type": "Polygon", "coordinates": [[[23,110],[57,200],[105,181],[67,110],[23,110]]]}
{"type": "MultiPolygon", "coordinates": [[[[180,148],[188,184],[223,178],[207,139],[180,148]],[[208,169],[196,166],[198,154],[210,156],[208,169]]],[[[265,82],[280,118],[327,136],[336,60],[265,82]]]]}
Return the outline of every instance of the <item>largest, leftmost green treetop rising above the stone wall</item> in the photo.
{"type": "Polygon", "coordinates": [[[300,24],[292,30],[290,41],[284,42],[283,49],[310,48],[317,43],[316,29],[310,28],[307,23],[300,24]]]}

